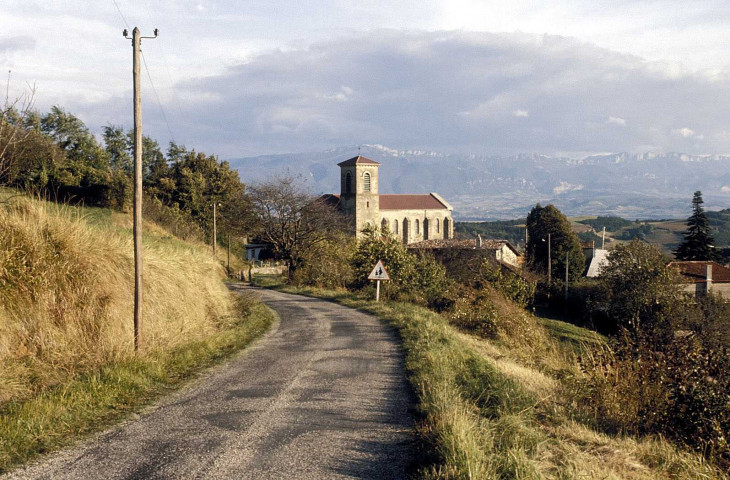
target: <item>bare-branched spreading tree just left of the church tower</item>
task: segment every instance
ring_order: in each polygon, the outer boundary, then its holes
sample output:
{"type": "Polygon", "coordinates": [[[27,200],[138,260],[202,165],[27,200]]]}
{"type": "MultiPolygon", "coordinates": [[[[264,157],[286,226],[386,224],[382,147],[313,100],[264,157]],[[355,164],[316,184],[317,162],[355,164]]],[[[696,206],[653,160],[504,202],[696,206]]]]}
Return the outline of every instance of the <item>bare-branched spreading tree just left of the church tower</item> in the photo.
{"type": "Polygon", "coordinates": [[[307,252],[344,229],[344,218],[322,197],[310,194],[300,179],[287,174],[249,188],[258,217],[256,234],[289,262],[289,278],[307,252]]]}

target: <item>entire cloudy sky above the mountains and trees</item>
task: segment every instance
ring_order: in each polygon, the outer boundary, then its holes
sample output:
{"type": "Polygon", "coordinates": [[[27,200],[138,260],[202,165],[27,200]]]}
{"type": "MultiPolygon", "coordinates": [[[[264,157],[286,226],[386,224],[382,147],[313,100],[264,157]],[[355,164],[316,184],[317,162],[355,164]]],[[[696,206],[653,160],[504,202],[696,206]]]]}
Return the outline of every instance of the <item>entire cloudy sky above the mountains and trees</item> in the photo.
{"type": "Polygon", "coordinates": [[[131,127],[127,26],[145,133],[221,158],[730,153],[727,0],[3,0],[10,95],[131,127]]]}

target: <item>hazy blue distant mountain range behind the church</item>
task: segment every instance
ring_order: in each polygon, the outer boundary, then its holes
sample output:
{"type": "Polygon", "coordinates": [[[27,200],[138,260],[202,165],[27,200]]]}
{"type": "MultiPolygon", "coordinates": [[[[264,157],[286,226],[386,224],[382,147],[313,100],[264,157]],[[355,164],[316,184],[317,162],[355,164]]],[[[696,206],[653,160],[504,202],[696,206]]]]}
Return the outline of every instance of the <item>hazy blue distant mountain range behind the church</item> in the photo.
{"type": "MultiPolygon", "coordinates": [[[[324,152],[231,159],[244,182],[288,170],[311,180],[316,193],[339,190],[337,163],[353,147],[324,152]]],[[[570,216],[684,218],[701,190],[708,210],[730,207],[730,156],[616,153],[582,159],[536,154],[454,155],[364,145],[360,154],[381,163],[381,193],[438,192],[458,220],[524,216],[536,203],[553,203],[570,216]]]]}

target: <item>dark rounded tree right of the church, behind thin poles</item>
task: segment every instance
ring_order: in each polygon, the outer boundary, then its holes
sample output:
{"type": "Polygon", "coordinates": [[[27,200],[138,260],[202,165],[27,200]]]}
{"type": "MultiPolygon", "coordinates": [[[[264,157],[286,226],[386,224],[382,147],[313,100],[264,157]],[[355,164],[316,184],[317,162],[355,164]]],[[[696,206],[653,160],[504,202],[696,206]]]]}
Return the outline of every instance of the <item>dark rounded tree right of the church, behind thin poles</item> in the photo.
{"type": "Polygon", "coordinates": [[[583,275],[585,256],[570,222],[554,205],[542,207],[539,203],[527,216],[527,258],[529,267],[547,273],[548,256],[551,258],[554,278],[565,278],[565,257],[568,256],[570,280],[583,275]],[[548,234],[550,254],[548,255],[548,234]]]}

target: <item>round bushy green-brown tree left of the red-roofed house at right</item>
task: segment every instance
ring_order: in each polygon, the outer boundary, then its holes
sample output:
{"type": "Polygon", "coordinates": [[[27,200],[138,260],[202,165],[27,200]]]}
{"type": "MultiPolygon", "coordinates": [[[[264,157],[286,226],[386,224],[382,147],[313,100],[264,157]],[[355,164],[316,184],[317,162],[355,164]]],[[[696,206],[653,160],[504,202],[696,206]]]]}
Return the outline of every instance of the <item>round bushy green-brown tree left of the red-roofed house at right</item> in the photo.
{"type": "Polygon", "coordinates": [[[598,277],[601,303],[618,326],[643,333],[671,332],[681,309],[679,273],[667,267],[661,251],[633,240],[608,254],[598,277]]]}

